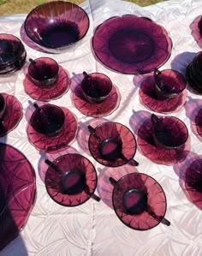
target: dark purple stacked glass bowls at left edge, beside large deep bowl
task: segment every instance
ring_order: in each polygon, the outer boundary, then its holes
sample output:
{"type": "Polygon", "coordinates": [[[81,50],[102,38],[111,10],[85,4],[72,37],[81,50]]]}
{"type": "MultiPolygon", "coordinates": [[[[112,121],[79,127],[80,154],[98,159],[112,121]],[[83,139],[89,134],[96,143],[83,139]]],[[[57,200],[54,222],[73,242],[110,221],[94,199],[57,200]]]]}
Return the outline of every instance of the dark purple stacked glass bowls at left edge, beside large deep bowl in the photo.
{"type": "Polygon", "coordinates": [[[12,34],[0,33],[0,75],[20,69],[26,57],[27,51],[20,39],[12,34]]]}

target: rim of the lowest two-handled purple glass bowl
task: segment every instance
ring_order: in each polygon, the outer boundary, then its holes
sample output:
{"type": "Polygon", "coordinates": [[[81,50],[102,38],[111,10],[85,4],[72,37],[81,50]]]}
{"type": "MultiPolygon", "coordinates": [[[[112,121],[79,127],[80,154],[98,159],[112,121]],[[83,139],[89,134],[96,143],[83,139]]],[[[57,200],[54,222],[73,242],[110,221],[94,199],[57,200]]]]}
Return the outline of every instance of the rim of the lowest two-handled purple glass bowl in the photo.
{"type": "MultiPolygon", "coordinates": [[[[127,175],[122,176],[122,177],[116,182],[116,185],[117,185],[118,182],[120,182],[121,180],[125,179],[127,176],[132,176],[132,175],[133,175],[133,176],[135,176],[135,175],[146,176],[147,178],[152,179],[154,182],[156,182],[157,185],[162,189],[162,192],[163,192],[163,195],[164,195],[164,199],[165,199],[165,200],[164,200],[165,211],[164,211],[164,214],[163,214],[163,217],[164,217],[165,214],[166,214],[166,211],[167,211],[167,199],[166,199],[166,194],[165,194],[165,192],[164,192],[164,190],[163,190],[163,187],[162,187],[162,186],[157,182],[157,180],[155,180],[153,177],[148,176],[147,174],[142,173],[142,172],[128,173],[127,175]]],[[[114,186],[113,192],[112,192],[112,204],[113,204],[113,208],[114,208],[115,212],[116,212],[116,207],[115,207],[115,205],[114,205],[114,199],[113,199],[113,198],[114,198],[114,193],[115,193],[116,185],[114,186]]],[[[126,214],[126,215],[128,216],[129,214],[126,214]]],[[[128,228],[134,229],[134,228],[131,227],[128,223],[125,223],[125,222],[122,220],[122,217],[120,217],[120,216],[117,214],[117,212],[116,212],[116,216],[122,221],[122,223],[124,223],[126,226],[128,226],[128,228]]],[[[135,215],[134,215],[134,217],[135,217],[135,215]]],[[[148,228],[148,229],[134,229],[134,230],[146,231],[146,230],[153,229],[153,228],[157,227],[157,225],[158,225],[159,223],[161,223],[161,222],[158,222],[156,225],[154,225],[154,226],[152,226],[152,227],[150,227],[150,228],[148,228]]]]}

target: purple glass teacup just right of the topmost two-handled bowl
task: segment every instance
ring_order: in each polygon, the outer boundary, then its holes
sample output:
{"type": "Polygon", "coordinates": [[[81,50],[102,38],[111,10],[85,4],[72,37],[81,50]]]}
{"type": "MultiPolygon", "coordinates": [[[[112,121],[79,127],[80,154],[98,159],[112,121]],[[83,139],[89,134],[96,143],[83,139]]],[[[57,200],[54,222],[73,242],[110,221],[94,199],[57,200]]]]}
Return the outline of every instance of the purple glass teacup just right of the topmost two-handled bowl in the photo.
{"type": "Polygon", "coordinates": [[[157,117],[151,114],[153,140],[157,147],[179,149],[188,139],[188,130],[184,122],[175,116],[157,117]]]}

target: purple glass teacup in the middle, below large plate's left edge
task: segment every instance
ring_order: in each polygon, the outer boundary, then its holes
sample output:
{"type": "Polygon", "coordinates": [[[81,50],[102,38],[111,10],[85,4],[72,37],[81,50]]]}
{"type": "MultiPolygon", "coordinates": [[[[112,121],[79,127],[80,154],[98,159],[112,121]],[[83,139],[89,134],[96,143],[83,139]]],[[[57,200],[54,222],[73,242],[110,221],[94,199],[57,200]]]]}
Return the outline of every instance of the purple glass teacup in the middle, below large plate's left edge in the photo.
{"type": "Polygon", "coordinates": [[[90,103],[98,103],[104,101],[111,92],[112,82],[110,78],[101,73],[87,74],[83,72],[84,79],[81,82],[81,89],[90,103]]]}

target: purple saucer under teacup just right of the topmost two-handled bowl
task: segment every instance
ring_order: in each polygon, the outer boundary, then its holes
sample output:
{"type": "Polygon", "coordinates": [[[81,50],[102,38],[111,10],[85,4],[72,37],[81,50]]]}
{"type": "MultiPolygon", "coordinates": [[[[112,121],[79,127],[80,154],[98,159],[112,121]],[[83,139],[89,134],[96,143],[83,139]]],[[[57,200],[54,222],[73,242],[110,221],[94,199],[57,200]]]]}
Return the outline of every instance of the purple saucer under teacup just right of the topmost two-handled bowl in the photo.
{"type": "Polygon", "coordinates": [[[140,152],[156,164],[171,165],[175,164],[187,157],[190,151],[190,138],[188,138],[185,146],[180,149],[162,149],[157,148],[153,141],[151,118],[146,119],[138,129],[137,143],[140,152]]]}

